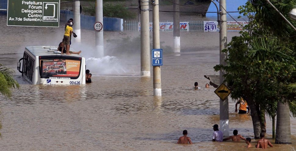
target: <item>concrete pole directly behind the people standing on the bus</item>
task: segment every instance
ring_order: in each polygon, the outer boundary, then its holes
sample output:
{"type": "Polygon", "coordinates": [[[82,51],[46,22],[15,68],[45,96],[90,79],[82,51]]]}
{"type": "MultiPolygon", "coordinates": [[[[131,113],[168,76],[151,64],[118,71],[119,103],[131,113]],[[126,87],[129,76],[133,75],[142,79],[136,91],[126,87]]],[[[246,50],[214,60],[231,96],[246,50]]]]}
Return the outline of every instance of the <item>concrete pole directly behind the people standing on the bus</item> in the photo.
{"type": "Polygon", "coordinates": [[[71,40],[73,40],[74,42],[81,42],[81,32],[80,32],[80,1],[76,1],[74,2],[74,7],[73,7],[73,21],[74,21],[74,25],[73,25],[73,31],[74,33],[76,33],[77,37],[73,38],[71,40]]]}

